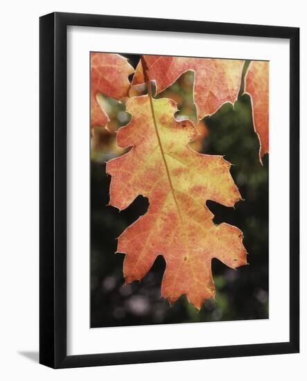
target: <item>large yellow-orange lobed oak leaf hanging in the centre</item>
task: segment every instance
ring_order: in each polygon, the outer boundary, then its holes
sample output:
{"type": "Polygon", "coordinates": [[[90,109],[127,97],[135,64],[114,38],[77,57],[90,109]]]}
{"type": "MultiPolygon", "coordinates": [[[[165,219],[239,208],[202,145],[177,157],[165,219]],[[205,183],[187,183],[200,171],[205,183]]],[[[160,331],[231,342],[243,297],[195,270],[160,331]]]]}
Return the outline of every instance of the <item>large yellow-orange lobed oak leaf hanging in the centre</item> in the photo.
{"type": "Polygon", "coordinates": [[[132,120],[119,129],[117,144],[131,149],[107,162],[109,204],[121,211],[143,195],[149,207],[118,238],[125,283],[141,280],[161,254],[166,260],[162,296],[174,303],[186,294],[200,309],[215,297],[212,258],[233,269],[247,263],[242,231],[214,224],[205,204],[234,206],[242,200],[231,164],[190,148],[198,132],[191,121],[175,120],[173,100],[139,96],[130,98],[126,108],[132,120]]]}

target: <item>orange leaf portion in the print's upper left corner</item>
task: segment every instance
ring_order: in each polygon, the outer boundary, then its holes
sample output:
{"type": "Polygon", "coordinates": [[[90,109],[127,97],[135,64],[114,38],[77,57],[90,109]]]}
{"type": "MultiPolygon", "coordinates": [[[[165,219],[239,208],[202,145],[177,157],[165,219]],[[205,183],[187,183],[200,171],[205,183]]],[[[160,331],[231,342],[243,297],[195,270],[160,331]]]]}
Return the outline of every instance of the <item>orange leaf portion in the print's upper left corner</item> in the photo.
{"type": "Polygon", "coordinates": [[[128,96],[128,76],[132,73],[133,67],[119,54],[91,53],[91,127],[104,127],[109,121],[98,103],[97,94],[116,100],[128,96]]]}

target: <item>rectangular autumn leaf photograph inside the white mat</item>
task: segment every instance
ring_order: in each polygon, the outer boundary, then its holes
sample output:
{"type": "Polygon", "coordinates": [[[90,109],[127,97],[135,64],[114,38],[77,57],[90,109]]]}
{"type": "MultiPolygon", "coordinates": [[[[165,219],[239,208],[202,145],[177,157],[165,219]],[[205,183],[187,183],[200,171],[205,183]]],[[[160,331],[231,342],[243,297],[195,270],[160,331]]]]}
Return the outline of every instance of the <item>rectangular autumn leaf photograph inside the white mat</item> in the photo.
{"type": "Polygon", "coordinates": [[[90,327],[269,319],[270,62],[89,60],[90,327]]]}

